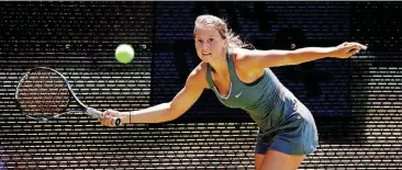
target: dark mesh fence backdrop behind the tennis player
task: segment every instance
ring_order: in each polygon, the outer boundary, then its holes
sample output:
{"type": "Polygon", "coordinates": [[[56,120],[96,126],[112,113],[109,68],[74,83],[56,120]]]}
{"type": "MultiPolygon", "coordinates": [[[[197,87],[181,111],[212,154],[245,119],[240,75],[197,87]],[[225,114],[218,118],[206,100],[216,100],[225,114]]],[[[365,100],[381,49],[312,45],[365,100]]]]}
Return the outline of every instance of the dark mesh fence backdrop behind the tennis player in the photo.
{"type": "MultiPolygon", "coordinates": [[[[0,169],[254,169],[256,124],[205,90],[178,120],[101,126],[83,114],[41,123],[16,109],[21,77],[64,73],[98,110],[170,101],[199,64],[193,22],[227,21],[259,49],[368,44],[349,59],[271,68],[313,113],[319,150],[300,169],[400,169],[401,2],[0,2],[0,169]],[[131,44],[135,59],[118,64],[131,44]]],[[[74,105],[70,107],[74,109],[74,105]]]]}

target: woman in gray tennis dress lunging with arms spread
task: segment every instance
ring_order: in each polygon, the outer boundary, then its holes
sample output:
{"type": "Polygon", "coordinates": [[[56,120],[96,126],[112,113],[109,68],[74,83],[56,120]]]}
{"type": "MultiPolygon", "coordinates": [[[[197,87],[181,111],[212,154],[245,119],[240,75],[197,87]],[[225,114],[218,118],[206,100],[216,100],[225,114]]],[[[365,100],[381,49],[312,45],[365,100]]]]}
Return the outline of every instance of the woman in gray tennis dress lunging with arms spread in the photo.
{"type": "Polygon", "coordinates": [[[258,124],[255,146],[256,170],[295,170],[304,157],[316,150],[317,129],[309,109],[269,69],[298,65],[325,57],[348,58],[367,46],[343,43],[333,47],[304,47],[294,50],[246,49],[248,44],[214,15],[196,20],[193,36],[201,63],[186,86],[168,103],[133,112],[108,110],[101,124],[161,123],[187,112],[204,89],[215,92],[226,106],[245,110],[258,124]]]}

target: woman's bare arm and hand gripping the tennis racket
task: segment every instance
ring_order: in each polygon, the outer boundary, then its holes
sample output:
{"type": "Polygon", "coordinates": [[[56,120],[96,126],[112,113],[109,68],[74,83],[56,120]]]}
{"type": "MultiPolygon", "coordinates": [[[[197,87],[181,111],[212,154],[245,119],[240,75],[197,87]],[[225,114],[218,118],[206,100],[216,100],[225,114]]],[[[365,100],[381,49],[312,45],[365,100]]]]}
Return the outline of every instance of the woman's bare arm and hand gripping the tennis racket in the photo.
{"type": "Polygon", "coordinates": [[[189,75],[185,87],[167,103],[161,103],[144,110],[118,112],[108,110],[100,120],[101,124],[113,126],[111,116],[119,116],[122,123],[161,123],[172,121],[187,112],[208,88],[204,64],[200,64],[189,75]]]}

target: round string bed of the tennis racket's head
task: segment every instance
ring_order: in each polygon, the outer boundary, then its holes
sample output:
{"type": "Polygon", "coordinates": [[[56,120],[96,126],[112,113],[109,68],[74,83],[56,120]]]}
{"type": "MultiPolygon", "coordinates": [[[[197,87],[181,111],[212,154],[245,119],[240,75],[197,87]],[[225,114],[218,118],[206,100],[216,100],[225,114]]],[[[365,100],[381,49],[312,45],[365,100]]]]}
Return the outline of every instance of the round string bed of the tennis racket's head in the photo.
{"type": "Polygon", "coordinates": [[[69,91],[58,73],[37,69],[23,77],[18,99],[25,114],[33,117],[49,116],[67,107],[69,91]]]}

